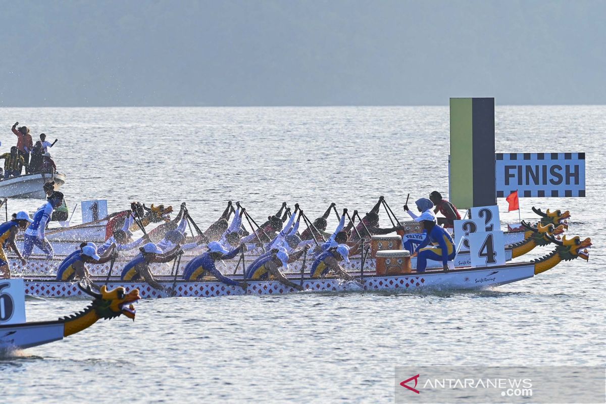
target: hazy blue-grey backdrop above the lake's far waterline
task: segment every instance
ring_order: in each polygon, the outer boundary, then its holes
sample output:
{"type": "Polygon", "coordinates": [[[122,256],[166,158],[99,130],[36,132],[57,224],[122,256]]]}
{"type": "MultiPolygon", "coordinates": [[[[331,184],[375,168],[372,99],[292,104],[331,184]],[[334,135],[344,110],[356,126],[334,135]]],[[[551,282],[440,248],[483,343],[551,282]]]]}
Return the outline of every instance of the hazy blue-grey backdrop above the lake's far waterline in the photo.
{"type": "Polygon", "coordinates": [[[0,0],[0,107],[606,104],[605,1],[0,0]]]}

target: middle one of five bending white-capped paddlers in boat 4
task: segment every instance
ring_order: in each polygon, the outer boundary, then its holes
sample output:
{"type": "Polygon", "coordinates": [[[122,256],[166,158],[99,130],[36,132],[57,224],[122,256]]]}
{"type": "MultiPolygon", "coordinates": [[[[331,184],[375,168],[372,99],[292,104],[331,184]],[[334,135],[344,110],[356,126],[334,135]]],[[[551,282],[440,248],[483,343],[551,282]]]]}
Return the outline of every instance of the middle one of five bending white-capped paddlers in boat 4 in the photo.
{"type": "Polygon", "coordinates": [[[224,274],[219,271],[215,263],[220,260],[232,259],[237,256],[242,249],[245,249],[245,245],[241,244],[238,248],[234,248],[231,251],[225,250],[225,248],[221,245],[221,243],[217,241],[211,241],[208,243],[208,251],[206,251],[201,256],[195,257],[190,262],[187,263],[185,270],[183,272],[184,280],[198,280],[204,277],[205,275],[211,275],[218,279],[220,282],[225,283],[225,285],[230,286],[240,286],[242,289],[246,290],[245,282],[238,282],[231,278],[228,278],[224,274]]]}

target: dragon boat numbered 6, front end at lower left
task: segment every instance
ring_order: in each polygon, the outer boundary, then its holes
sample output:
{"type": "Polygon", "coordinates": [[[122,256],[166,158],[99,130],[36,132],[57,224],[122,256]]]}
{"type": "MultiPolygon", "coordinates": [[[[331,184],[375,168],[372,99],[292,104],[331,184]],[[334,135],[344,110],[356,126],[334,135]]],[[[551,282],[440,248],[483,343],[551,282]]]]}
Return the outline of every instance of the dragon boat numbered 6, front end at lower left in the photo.
{"type": "MultiPolygon", "coordinates": [[[[32,346],[62,340],[64,337],[87,329],[98,320],[113,319],[122,314],[135,320],[136,311],[132,303],[141,298],[137,288],[129,288],[127,293],[121,286],[116,286],[111,290],[102,286],[99,293],[96,293],[90,287],[84,287],[80,284],[72,286],[78,290],[79,296],[92,296],[92,303],[84,310],[58,320],[0,324],[0,352],[31,348],[32,346]]],[[[27,288],[28,283],[25,282],[26,292],[27,288]]],[[[2,284],[0,284],[1,290],[2,284]]],[[[2,299],[2,302],[4,303],[3,310],[6,310],[7,299],[2,299]]]]}

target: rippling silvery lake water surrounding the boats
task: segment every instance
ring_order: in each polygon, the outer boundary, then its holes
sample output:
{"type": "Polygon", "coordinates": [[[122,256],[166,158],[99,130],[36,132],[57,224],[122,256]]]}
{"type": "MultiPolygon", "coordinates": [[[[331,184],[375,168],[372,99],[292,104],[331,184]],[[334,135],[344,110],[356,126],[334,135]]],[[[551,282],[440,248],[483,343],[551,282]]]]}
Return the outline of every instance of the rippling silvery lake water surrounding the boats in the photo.
{"type": "MultiPolygon", "coordinates": [[[[185,201],[200,227],[228,199],[259,220],[282,201],[308,216],[367,211],[448,191],[448,107],[2,108],[10,127],[59,138],[70,208],[107,199],[185,201]]],[[[393,402],[396,365],[604,365],[606,107],[496,107],[499,152],[587,153],[587,197],[521,198],[571,211],[590,262],[479,293],[299,293],[145,300],[135,323],[99,322],[62,342],[0,358],[0,402],[393,402]]],[[[9,201],[35,210],[41,201],[9,201]]],[[[499,200],[502,222],[518,219],[499,200]]],[[[79,221],[79,210],[73,222],[79,221]]],[[[382,223],[387,225],[384,214],[382,223]]],[[[336,226],[334,216],[329,228],[336,226]]],[[[528,257],[551,251],[539,248],[528,257]]],[[[52,320],[84,299],[28,299],[52,320]]]]}

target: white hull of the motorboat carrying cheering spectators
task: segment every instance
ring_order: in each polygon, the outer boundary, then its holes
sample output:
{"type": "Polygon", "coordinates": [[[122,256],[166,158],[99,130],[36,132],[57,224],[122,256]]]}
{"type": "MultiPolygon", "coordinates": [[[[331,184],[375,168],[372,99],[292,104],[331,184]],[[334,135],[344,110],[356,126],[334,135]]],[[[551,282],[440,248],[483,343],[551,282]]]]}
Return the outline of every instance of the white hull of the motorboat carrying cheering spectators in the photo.
{"type": "Polygon", "coordinates": [[[65,174],[28,174],[0,181],[0,197],[17,199],[46,199],[44,184],[55,181],[55,190],[65,184],[65,174]]]}

